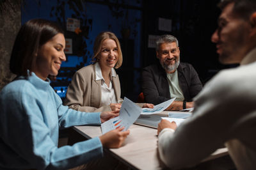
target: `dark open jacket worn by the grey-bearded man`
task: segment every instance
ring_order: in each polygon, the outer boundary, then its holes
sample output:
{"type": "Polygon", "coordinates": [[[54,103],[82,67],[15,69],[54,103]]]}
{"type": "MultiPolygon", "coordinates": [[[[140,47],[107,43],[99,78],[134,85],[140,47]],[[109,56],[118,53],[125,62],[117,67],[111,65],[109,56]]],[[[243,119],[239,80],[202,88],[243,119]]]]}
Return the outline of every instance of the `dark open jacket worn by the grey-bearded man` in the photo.
{"type": "MultiPolygon", "coordinates": [[[[185,101],[191,102],[201,91],[202,83],[192,65],[180,63],[177,70],[185,101]]],[[[141,80],[145,102],[156,105],[171,98],[167,75],[160,63],[143,68],[141,80]]]]}

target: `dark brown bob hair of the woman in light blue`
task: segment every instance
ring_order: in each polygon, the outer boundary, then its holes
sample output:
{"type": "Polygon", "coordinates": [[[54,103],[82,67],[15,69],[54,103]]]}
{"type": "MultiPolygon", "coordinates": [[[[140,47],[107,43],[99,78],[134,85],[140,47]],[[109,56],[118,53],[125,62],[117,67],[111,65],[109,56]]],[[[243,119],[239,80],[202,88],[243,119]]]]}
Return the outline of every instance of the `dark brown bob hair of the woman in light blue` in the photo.
{"type": "Polygon", "coordinates": [[[31,70],[38,49],[58,33],[63,34],[62,29],[49,20],[33,19],[26,22],[20,27],[13,45],[11,72],[26,76],[27,70],[31,70]]]}

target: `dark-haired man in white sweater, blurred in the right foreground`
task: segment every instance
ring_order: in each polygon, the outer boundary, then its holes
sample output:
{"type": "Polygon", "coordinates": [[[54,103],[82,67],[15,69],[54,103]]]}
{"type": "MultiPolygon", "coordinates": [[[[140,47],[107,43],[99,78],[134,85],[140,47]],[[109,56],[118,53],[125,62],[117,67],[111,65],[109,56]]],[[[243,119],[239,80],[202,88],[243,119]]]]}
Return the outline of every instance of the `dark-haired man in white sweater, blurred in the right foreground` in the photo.
{"type": "Polygon", "coordinates": [[[172,169],[198,164],[225,144],[237,169],[256,168],[256,1],[223,0],[212,35],[220,62],[241,66],[218,73],[194,98],[193,116],[178,128],[162,120],[159,155],[172,169]]]}

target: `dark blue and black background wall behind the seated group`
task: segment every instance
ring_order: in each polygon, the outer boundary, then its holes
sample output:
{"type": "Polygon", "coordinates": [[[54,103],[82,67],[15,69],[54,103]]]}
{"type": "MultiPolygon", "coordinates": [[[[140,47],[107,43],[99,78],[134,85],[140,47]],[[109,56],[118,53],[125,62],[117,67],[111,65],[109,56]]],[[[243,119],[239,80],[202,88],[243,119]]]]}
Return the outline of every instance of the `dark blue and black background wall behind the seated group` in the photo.
{"type": "MultiPolygon", "coordinates": [[[[180,60],[191,63],[203,83],[211,79],[219,70],[227,67],[220,65],[215,45],[211,43],[211,35],[216,29],[216,21],[220,13],[216,6],[219,1],[26,0],[24,1],[26,5],[22,10],[22,23],[29,19],[41,17],[61,22],[60,24],[65,27],[67,17],[73,17],[83,21],[81,23],[86,23],[86,27],[89,26],[89,29],[85,29],[84,41],[86,42],[85,49],[87,52],[83,52],[83,56],[77,57],[76,54],[67,55],[67,62],[63,62],[61,65],[56,83],[52,82],[52,86],[57,92],[59,91],[59,95],[63,98],[65,98],[65,91],[72,73],[76,72],[81,66],[90,64],[95,36],[100,31],[113,31],[120,40],[124,56],[124,64],[116,70],[120,77],[122,97],[129,97],[136,102],[141,91],[141,69],[159,62],[156,58],[156,50],[148,48],[148,35],[171,34],[176,36],[179,40],[180,60]],[[74,7],[74,3],[77,4],[77,2],[83,3],[84,8],[78,14],[76,10],[70,8],[70,4],[74,7]],[[159,17],[171,19],[172,30],[159,31],[159,17]],[[130,36],[123,36],[122,30],[124,27],[129,28],[130,36]]],[[[70,38],[68,34],[66,34],[66,38],[70,38]]],[[[74,44],[77,44],[76,40],[77,38],[74,38],[74,44]]],[[[78,42],[78,44],[84,43],[78,42]]],[[[77,45],[74,45],[75,47],[77,45]]]]}

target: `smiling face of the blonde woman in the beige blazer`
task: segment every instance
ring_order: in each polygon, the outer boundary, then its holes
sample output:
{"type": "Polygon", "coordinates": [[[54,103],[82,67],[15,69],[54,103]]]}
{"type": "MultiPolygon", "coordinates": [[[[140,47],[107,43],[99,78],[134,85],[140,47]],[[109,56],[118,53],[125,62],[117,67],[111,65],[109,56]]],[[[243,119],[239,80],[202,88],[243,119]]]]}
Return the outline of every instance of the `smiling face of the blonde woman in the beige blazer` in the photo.
{"type": "Polygon", "coordinates": [[[100,53],[97,56],[101,70],[111,70],[118,60],[118,47],[110,38],[102,42],[100,53]]]}

